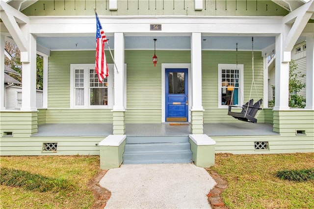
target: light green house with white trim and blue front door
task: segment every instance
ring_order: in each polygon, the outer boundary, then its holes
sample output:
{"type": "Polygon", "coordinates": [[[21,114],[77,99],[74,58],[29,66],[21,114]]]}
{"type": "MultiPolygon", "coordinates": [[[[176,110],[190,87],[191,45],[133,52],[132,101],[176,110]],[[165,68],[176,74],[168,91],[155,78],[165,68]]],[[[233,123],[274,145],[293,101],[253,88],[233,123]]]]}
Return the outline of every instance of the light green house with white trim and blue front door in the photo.
{"type": "Polygon", "coordinates": [[[1,100],[0,155],[100,155],[101,168],[111,168],[190,160],[207,167],[214,153],[314,152],[314,0],[0,3],[1,45],[12,37],[23,63],[21,110],[1,100]],[[106,46],[103,83],[95,73],[94,8],[115,62],[106,46]],[[288,62],[300,38],[307,104],[290,109],[288,62]],[[36,53],[44,57],[42,109],[36,53]],[[267,108],[272,54],[276,104],[267,108]],[[257,124],[228,115],[228,104],[261,98],[257,124]],[[168,150],[181,142],[187,150],[168,150]],[[149,152],[148,144],[161,148],[149,152]]]}

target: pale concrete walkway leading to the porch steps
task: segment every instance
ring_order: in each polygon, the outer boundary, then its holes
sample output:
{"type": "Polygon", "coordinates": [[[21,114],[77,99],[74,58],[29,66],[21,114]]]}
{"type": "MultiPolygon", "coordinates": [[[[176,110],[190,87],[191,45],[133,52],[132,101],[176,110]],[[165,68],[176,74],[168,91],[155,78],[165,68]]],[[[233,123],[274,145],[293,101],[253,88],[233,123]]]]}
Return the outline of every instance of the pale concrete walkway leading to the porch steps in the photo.
{"type": "Polygon", "coordinates": [[[111,192],[105,209],[210,208],[207,194],[216,182],[192,163],[121,165],[100,185],[111,192]]]}

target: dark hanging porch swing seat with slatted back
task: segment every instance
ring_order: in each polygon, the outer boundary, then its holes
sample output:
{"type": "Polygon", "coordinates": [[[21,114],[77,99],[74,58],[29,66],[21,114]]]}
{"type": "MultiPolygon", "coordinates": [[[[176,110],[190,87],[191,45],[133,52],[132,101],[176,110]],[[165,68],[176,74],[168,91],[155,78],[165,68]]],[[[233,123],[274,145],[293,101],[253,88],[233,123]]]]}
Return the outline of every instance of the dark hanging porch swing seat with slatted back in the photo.
{"type": "Polygon", "coordinates": [[[256,123],[257,119],[255,118],[255,116],[256,116],[257,111],[262,109],[262,108],[260,108],[262,105],[262,99],[260,99],[255,104],[253,104],[253,103],[254,103],[254,101],[252,99],[249,102],[247,102],[246,104],[244,104],[242,106],[241,112],[232,112],[231,109],[232,109],[232,107],[235,107],[235,106],[229,105],[228,115],[231,115],[234,118],[241,120],[241,121],[256,123]]]}

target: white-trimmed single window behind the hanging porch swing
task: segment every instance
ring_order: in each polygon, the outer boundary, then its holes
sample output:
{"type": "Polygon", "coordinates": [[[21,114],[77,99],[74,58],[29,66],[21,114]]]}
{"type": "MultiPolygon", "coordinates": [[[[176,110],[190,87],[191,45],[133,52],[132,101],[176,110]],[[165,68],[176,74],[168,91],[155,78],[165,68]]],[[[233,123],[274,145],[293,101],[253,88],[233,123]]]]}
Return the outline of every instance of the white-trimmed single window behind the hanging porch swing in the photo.
{"type": "Polygon", "coordinates": [[[243,104],[243,64],[218,64],[218,107],[243,104]]]}

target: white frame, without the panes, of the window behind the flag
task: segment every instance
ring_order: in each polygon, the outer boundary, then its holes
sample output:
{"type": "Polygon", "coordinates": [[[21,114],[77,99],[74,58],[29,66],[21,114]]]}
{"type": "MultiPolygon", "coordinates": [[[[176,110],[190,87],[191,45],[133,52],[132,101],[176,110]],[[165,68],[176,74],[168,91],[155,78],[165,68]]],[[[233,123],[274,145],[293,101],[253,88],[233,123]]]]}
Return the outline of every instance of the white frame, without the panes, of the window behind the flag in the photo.
{"type": "Polygon", "coordinates": [[[113,64],[108,64],[109,77],[108,81],[108,104],[107,105],[90,105],[89,91],[89,70],[95,69],[95,64],[71,64],[70,65],[70,107],[82,109],[110,109],[113,106],[113,64]],[[76,105],[75,103],[75,70],[84,70],[84,105],[76,105]]]}

